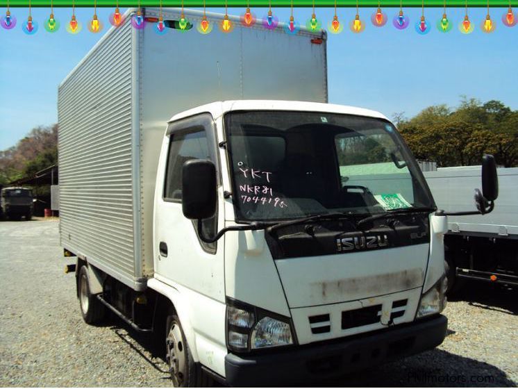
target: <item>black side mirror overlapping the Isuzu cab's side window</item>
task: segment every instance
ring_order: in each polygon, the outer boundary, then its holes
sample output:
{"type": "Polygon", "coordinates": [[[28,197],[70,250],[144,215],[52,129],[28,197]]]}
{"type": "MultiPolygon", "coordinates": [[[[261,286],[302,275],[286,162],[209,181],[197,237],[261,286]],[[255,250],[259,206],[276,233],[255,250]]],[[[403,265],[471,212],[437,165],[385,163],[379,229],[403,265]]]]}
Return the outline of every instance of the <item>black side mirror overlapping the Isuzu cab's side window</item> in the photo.
{"type": "Polygon", "coordinates": [[[216,213],[216,167],[210,160],[187,160],[182,168],[182,210],[187,219],[216,213]]]}

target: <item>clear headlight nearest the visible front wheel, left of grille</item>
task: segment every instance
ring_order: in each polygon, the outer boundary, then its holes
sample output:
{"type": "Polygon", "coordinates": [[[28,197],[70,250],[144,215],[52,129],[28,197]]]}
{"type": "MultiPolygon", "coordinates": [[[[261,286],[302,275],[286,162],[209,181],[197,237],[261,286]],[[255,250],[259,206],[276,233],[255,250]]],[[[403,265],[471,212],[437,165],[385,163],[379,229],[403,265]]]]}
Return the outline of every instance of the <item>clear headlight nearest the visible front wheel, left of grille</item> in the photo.
{"type": "Polygon", "coordinates": [[[227,301],[226,329],[228,348],[234,351],[250,351],[251,349],[294,344],[289,317],[283,317],[239,301],[227,301]]]}

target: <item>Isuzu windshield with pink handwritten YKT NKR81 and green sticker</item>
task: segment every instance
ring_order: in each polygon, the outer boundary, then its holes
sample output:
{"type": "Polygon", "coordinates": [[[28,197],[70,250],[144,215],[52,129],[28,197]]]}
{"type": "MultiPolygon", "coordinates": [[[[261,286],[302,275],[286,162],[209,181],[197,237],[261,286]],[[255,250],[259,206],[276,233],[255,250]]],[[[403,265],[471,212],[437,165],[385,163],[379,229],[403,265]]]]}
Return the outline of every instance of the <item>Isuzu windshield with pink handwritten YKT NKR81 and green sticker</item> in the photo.
{"type": "Polygon", "coordinates": [[[225,116],[237,220],[433,207],[389,122],[334,113],[225,116]]]}

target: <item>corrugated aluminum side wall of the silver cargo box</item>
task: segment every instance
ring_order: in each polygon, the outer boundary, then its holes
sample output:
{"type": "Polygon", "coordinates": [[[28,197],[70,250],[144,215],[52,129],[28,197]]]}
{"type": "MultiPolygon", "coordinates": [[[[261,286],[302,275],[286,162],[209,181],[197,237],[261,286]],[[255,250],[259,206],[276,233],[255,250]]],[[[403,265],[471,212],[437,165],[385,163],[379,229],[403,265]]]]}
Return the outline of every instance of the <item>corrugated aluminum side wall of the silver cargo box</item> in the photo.
{"type": "Polygon", "coordinates": [[[132,35],[112,29],[58,90],[63,247],[134,285],[132,35]]]}

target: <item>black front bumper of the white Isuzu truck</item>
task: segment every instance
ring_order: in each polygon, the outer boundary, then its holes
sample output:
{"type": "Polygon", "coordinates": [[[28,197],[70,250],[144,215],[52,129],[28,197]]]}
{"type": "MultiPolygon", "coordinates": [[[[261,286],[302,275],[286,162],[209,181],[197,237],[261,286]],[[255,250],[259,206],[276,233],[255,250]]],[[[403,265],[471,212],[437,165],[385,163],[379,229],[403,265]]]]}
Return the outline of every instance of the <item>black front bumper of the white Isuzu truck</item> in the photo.
{"type": "Polygon", "coordinates": [[[433,349],[444,340],[447,325],[446,317],[437,315],[317,345],[255,356],[227,354],[226,383],[230,386],[276,386],[341,376],[433,349]]]}

